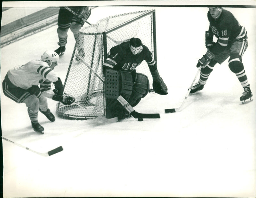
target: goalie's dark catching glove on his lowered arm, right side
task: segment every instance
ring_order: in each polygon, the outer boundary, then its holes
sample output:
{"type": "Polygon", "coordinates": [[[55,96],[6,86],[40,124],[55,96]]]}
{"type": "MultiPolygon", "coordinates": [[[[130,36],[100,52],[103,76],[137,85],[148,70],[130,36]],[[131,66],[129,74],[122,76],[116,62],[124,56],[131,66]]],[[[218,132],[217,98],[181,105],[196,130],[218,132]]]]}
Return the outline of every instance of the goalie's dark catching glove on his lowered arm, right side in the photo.
{"type": "Polygon", "coordinates": [[[164,80],[160,77],[158,70],[150,71],[153,78],[153,89],[157,94],[167,95],[167,86],[164,83],[164,80]]]}

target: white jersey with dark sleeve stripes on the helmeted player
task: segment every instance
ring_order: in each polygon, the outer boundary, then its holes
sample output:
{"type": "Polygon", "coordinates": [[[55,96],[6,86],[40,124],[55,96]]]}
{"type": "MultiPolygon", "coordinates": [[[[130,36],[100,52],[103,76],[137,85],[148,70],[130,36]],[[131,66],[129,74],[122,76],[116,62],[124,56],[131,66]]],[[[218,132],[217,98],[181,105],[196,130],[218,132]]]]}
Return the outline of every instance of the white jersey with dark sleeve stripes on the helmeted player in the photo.
{"type": "Polygon", "coordinates": [[[40,85],[45,80],[55,82],[57,75],[42,60],[32,60],[25,65],[16,66],[7,72],[8,78],[16,87],[28,89],[33,85],[40,85]]]}

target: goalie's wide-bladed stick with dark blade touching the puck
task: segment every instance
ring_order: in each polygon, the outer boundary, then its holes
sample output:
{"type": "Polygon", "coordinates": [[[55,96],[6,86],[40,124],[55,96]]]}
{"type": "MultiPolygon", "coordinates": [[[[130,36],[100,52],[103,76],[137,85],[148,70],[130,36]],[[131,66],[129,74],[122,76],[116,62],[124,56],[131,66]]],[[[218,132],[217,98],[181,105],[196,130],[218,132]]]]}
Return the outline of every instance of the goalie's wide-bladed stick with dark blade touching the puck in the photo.
{"type": "MultiPolygon", "coordinates": [[[[103,83],[104,80],[95,72],[92,67],[90,67],[82,57],[76,54],[76,57],[79,58],[86,67],[88,67],[103,83]]],[[[135,111],[132,106],[123,98],[122,95],[119,95],[117,98],[118,102],[123,105],[123,107],[133,116],[133,118],[160,118],[159,113],[138,113],[135,111]]]]}

